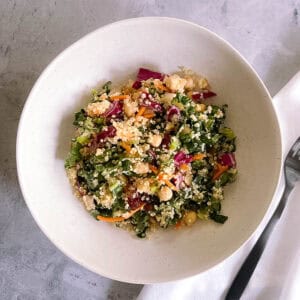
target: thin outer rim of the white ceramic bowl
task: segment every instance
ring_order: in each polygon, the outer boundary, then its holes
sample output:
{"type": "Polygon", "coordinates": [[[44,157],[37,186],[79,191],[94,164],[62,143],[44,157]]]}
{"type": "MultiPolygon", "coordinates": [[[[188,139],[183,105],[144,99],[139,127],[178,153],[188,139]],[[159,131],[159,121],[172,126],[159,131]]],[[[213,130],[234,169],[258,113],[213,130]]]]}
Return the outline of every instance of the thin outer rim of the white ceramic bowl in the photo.
{"type": "MultiPolygon", "coordinates": [[[[151,284],[151,283],[162,283],[162,282],[170,282],[170,281],[174,281],[174,280],[180,280],[180,279],[184,279],[184,278],[189,278],[192,276],[195,276],[197,274],[201,274],[204,273],[212,268],[214,268],[215,266],[217,266],[218,264],[220,264],[221,262],[229,259],[230,257],[232,257],[236,252],[239,251],[239,249],[241,249],[241,247],[243,245],[245,245],[256,233],[256,231],[258,230],[258,228],[262,225],[262,223],[264,222],[264,220],[267,218],[268,212],[270,211],[271,207],[273,206],[274,201],[276,201],[276,197],[274,197],[276,190],[278,189],[279,186],[279,182],[280,182],[280,178],[282,177],[282,163],[283,163],[283,153],[282,153],[282,132],[281,132],[281,127],[279,126],[279,120],[278,120],[278,116],[276,114],[276,110],[274,108],[274,104],[272,101],[272,97],[266,87],[266,85],[264,84],[264,82],[262,81],[262,79],[260,78],[260,76],[258,75],[258,73],[255,71],[255,69],[250,65],[250,63],[244,58],[244,56],[235,48],[233,47],[228,41],[226,41],[224,38],[222,38],[221,36],[219,36],[218,34],[216,34],[215,32],[211,31],[210,29],[207,29],[206,27],[202,26],[202,25],[198,25],[196,23],[184,20],[184,19],[180,19],[180,18],[173,18],[173,17],[160,17],[160,16],[149,16],[149,17],[137,17],[137,18],[127,18],[127,19],[123,19],[120,21],[116,21],[116,22],[112,22],[109,23],[107,25],[101,26],[89,33],[87,33],[86,35],[82,36],[81,38],[79,38],[78,40],[76,40],[74,43],[72,43],[71,45],[67,46],[63,51],[61,51],[58,55],[56,55],[49,63],[48,65],[44,68],[44,70],[40,73],[38,79],[35,81],[30,93],[27,96],[27,99],[25,101],[25,104],[23,106],[22,109],[22,113],[19,119],[19,123],[18,123],[18,130],[17,130],[17,137],[16,137],[16,166],[17,166],[17,178],[18,178],[18,182],[20,185],[20,189],[23,195],[23,198],[25,200],[25,203],[33,217],[33,219],[35,220],[35,222],[37,223],[38,227],[40,228],[40,230],[45,234],[45,236],[52,242],[52,244],[55,245],[55,247],[57,249],[59,249],[64,255],[66,255],[67,257],[71,258],[74,262],[76,262],[77,264],[83,266],[84,268],[98,274],[101,276],[105,276],[107,278],[113,279],[113,280],[118,280],[121,282],[126,282],[126,283],[135,283],[135,284],[151,284]],[[39,89],[40,86],[40,82],[42,82],[42,80],[44,80],[44,77],[47,76],[47,74],[49,72],[51,72],[52,68],[61,60],[64,58],[64,56],[66,54],[68,54],[69,51],[71,51],[73,48],[76,48],[78,45],[80,45],[81,43],[83,43],[86,39],[88,39],[91,35],[96,34],[98,32],[101,31],[105,31],[107,29],[109,29],[110,27],[114,27],[114,26],[119,26],[122,24],[128,24],[131,22],[143,22],[143,21],[168,21],[168,22],[175,22],[175,23],[179,23],[179,24],[186,24],[189,26],[192,26],[196,29],[200,29],[201,31],[205,32],[206,34],[212,36],[214,39],[219,40],[221,43],[223,43],[228,49],[230,49],[230,51],[232,53],[234,53],[239,60],[245,64],[245,66],[249,69],[250,72],[252,72],[252,74],[256,77],[256,79],[258,80],[259,84],[261,85],[261,88],[264,90],[266,96],[268,96],[269,101],[271,103],[270,108],[273,111],[273,116],[274,116],[274,120],[276,120],[277,123],[277,128],[278,128],[278,137],[279,137],[279,145],[278,145],[278,150],[280,151],[280,157],[278,159],[278,165],[280,165],[280,167],[277,168],[277,174],[275,174],[277,181],[276,184],[274,184],[274,189],[272,192],[272,199],[269,201],[268,207],[265,211],[265,214],[263,216],[263,218],[260,220],[260,222],[257,224],[255,230],[248,236],[248,238],[246,238],[246,240],[242,241],[239,246],[232,250],[232,252],[228,255],[223,255],[220,256],[218,259],[216,259],[215,263],[213,263],[210,267],[207,267],[206,269],[200,271],[200,272],[190,272],[189,274],[182,274],[181,276],[170,276],[170,278],[168,280],[126,280],[126,278],[121,278],[118,277],[118,275],[112,275],[112,274],[107,274],[104,272],[99,272],[99,270],[97,270],[95,267],[91,266],[90,264],[87,264],[84,259],[79,259],[78,257],[75,257],[73,255],[73,253],[68,253],[68,251],[66,249],[64,249],[64,247],[62,245],[60,245],[59,243],[56,243],[55,241],[53,241],[47,234],[47,230],[46,230],[46,226],[44,227],[44,225],[42,224],[42,222],[39,221],[39,218],[37,217],[36,212],[33,209],[33,206],[31,205],[31,201],[29,200],[30,197],[27,195],[26,193],[26,187],[25,187],[25,180],[24,180],[24,176],[22,174],[22,169],[21,169],[21,139],[22,139],[22,131],[23,131],[23,124],[25,122],[25,118],[27,115],[27,111],[30,107],[31,102],[34,99],[34,95],[36,93],[36,91],[39,89]]],[[[279,200],[278,200],[279,201],[279,200]]],[[[278,202],[277,201],[277,202],[278,202]]],[[[276,206],[277,203],[274,203],[274,205],[276,206]]]]}

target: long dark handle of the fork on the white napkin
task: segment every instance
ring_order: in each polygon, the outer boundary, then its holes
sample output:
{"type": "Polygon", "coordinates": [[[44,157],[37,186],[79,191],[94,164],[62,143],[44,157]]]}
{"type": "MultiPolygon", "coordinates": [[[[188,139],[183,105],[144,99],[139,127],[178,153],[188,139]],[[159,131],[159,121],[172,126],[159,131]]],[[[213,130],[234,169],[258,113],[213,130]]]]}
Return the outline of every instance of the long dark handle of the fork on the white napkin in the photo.
{"type": "Polygon", "coordinates": [[[244,261],[239,272],[235,276],[235,278],[227,292],[225,300],[237,300],[237,299],[241,298],[243,291],[245,290],[245,288],[256,268],[256,265],[265,249],[268,237],[271,234],[272,230],[274,229],[275,224],[277,223],[278,219],[280,218],[280,216],[282,214],[282,211],[287,202],[287,198],[288,198],[290,192],[292,191],[292,189],[293,189],[293,187],[290,185],[285,186],[282,197],[279,201],[279,204],[278,204],[275,212],[273,213],[271,219],[269,220],[267,226],[265,227],[261,236],[257,240],[256,244],[252,248],[251,252],[247,256],[247,258],[244,261]]]}

